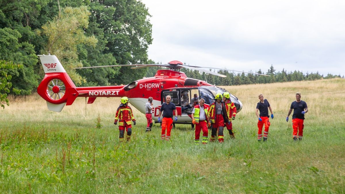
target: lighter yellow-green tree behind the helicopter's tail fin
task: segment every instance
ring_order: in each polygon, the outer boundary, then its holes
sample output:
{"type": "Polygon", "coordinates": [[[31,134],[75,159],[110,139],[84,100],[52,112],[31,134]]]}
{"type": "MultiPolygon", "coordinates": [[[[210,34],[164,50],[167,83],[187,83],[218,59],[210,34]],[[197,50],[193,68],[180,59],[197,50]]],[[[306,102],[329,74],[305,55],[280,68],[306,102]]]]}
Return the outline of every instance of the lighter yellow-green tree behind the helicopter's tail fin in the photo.
{"type": "Polygon", "coordinates": [[[82,66],[78,58],[78,45],[96,46],[97,43],[95,36],[86,36],[84,33],[84,29],[88,28],[89,15],[87,6],[66,7],[55,20],[43,25],[41,31],[42,35],[48,37],[47,46],[42,52],[56,55],[76,84],[84,81],[73,69],[82,66]]]}

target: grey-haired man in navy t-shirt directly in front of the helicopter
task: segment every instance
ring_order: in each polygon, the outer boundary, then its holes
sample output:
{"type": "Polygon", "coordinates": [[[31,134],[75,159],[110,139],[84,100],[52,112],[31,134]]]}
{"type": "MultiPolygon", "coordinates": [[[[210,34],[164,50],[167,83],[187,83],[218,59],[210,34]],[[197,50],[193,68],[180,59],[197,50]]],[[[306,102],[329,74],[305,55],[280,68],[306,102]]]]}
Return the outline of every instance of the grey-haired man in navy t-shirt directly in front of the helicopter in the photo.
{"type": "Polygon", "coordinates": [[[170,132],[172,128],[172,112],[175,113],[175,121],[177,121],[177,110],[174,103],[170,102],[171,97],[168,95],[165,99],[165,103],[162,104],[158,114],[158,122],[160,122],[160,115],[163,112],[162,119],[162,140],[170,140],[170,132]],[[165,135],[165,130],[167,130],[167,135],[165,135]]]}

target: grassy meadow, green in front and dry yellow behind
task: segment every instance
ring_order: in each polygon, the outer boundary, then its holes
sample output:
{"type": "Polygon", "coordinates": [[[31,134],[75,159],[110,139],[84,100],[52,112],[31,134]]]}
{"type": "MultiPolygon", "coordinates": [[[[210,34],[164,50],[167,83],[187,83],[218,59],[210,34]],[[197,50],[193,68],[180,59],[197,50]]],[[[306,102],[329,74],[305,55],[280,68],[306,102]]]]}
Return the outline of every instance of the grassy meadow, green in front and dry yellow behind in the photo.
{"type": "Polygon", "coordinates": [[[77,98],[61,113],[38,95],[10,98],[0,110],[0,193],[345,193],[345,79],[225,89],[243,103],[236,139],[226,130],[225,143],[199,146],[190,125],[177,124],[170,142],[158,124],[145,133],[135,108],[132,138],[119,143],[119,98],[97,98],[86,112],[77,98]],[[309,112],[294,142],[285,118],[297,91],[309,112]],[[267,142],[257,141],[260,93],[274,113],[267,142]]]}

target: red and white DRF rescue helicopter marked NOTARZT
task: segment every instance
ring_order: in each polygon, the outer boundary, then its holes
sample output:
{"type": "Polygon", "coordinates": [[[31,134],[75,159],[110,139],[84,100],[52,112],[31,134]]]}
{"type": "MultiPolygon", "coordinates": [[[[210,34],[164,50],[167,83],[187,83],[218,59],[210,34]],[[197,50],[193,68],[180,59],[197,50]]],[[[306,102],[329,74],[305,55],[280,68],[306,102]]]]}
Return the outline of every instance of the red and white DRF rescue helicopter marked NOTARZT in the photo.
{"type": "MultiPolygon", "coordinates": [[[[100,86],[100,87],[76,87],[70,79],[60,61],[55,55],[38,55],[42,67],[45,71],[45,77],[37,88],[37,93],[47,101],[49,110],[61,112],[65,105],[72,105],[77,97],[88,97],[88,104],[92,104],[99,97],[128,97],[130,104],[145,114],[145,103],[148,97],[153,97],[153,115],[152,119],[158,121],[160,106],[165,102],[167,95],[171,96],[171,102],[176,105],[178,122],[177,124],[191,124],[192,108],[184,109],[182,102],[191,103],[194,94],[199,99],[204,98],[205,104],[211,104],[217,93],[223,94],[225,89],[216,87],[206,81],[188,78],[181,68],[207,72],[209,74],[226,77],[216,72],[204,70],[197,66],[183,65],[180,61],[170,61],[168,64],[152,65],[117,65],[117,66],[136,66],[143,68],[149,66],[162,66],[170,69],[158,70],[155,77],[143,78],[134,81],[128,85],[122,86],[100,86]],[[182,95],[183,94],[183,95],[182,95]],[[184,110],[183,110],[184,109],[184,110]]],[[[110,67],[110,66],[98,66],[110,67]]],[[[82,67],[94,68],[94,67],[82,67]]],[[[219,69],[214,67],[206,67],[219,69]]],[[[235,70],[233,70],[235,71],[235,70]]],[[[243,71],[239,71],[243,72],[243,71]]],[[[251,73],[251,72],[245,72],[251,73]]],[[[252,73],[255,74],[255,73],[252,73]]],[[[258,74],[263,75],[263,74],[258,74]]],[[[241,101],[230,93],[231,101],[234,102],[237,112],[242,109],[241,101]]],[[[193,105],[191,105],[193,106],[193,105]]]]}

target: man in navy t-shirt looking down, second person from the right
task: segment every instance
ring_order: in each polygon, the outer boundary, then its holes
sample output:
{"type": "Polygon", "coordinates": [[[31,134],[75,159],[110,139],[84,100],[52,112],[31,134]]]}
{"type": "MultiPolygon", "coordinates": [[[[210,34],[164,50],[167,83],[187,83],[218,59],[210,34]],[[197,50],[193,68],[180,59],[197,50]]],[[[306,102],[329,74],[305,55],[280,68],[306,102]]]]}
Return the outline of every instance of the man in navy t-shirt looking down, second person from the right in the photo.
{"type": "Polygon", "coordinates": [[[260,101],[256,105],[256,111],[255,114],[258,117],[258,141],[262,138],[262,127],[265,124],[265,131],[264,131],[264,142],[267,140],[268,136],[268,129],[271,123],[269,122],[269,115],[268,115],[268,109],[271,111],[271,118],[273,119],[273,112],[272,108],[269,105],[267,99],[264,99],[264,95],[259,95],[260,101]],[[260,115],[258,113],[258,110],[260,111],[260,115]]]}

